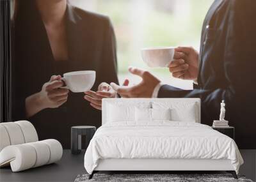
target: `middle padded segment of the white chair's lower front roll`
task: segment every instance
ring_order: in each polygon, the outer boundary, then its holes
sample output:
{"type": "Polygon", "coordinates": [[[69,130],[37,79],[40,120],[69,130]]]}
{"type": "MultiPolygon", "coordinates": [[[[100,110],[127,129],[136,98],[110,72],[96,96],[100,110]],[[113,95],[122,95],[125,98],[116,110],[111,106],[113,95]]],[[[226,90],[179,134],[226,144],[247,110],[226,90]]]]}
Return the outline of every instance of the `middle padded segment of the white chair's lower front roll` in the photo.
{"type": "Polygon", "coordinates": [[[41,165],[45,165],[50,160],[51,151],[45,142],[31,142],[28,145],[33,146],[36,150],[36,162],[33,167],[38,167],[41,165]]]}

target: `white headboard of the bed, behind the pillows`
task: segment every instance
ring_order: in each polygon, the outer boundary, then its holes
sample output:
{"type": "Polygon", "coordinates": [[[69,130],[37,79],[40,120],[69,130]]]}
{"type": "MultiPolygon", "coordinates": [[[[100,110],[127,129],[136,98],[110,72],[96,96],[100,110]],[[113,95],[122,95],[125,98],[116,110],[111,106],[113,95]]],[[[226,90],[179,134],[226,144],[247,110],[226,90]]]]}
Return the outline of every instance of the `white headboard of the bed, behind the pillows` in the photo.
{"type": "Polygon", "coordinates": [[[102,100],[102,125],[107,122],[107,112],[108,105],[122,105],[122,106],[131,106],[131,105],[140,105],[141,103],[149,103],[150,107],[152,107],[152,103],[154,104],[170,104],[175,107],[175,105],[188,105],[195,103],[196,109],[196,123],[201,122],[201,114],[200,114],[200,98],[104,98],[102,100]]]}

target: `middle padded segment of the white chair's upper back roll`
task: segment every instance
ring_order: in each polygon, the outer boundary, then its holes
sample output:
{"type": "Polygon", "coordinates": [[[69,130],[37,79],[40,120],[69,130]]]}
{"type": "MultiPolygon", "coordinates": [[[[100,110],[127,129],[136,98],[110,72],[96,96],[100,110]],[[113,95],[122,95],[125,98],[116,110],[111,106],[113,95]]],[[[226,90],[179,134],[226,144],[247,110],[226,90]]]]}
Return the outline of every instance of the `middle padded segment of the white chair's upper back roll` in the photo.
{"type": "Polygon", "coordinates": [[[11,145],[24,144],[24,135],[20,126],[14,122],[1,123],[4,128],[6,128],[6,132],[10,137],[11,145]]]}

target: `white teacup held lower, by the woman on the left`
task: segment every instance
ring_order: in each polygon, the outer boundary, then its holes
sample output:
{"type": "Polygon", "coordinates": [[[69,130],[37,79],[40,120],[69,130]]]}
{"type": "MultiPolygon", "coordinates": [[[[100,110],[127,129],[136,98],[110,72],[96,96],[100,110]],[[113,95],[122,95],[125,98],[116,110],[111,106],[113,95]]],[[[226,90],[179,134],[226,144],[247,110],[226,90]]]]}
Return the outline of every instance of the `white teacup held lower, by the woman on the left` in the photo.
{"type": "Polygon", "coordinates": [[[90,91],[96,79],[95,71],[81,71],[64,73],[62,80],[66,88],[74,93],[90,91]]]}

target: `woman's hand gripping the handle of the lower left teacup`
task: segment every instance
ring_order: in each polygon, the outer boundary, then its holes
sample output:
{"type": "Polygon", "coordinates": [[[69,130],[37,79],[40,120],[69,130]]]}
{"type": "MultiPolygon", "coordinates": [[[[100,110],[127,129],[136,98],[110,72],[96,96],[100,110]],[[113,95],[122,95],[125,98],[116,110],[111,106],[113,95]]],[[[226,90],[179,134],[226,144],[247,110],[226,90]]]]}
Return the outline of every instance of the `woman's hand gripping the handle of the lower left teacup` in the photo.
{"type": "Polygon", "coordinates": [[[40,98],[44,109],[57,108],[67,102],[69,90],[61,88],[63,86],[64,83],[60,75],[53,75],[51,80],[43,85],[42,91],[40,91],[40,98]]]}

